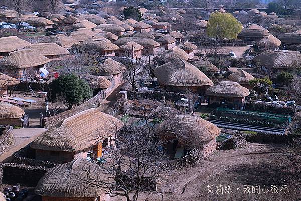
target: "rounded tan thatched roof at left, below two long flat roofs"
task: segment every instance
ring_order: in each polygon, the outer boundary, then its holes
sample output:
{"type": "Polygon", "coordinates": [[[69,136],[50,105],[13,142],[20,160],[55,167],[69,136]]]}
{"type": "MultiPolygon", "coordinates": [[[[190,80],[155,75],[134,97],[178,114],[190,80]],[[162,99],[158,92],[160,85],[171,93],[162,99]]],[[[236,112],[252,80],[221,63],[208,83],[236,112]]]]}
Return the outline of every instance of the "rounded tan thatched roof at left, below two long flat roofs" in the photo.
{"type": "Polygon", "coordinates": [[[2,61],[4,61],[3,65],[11,69],[34,67],[50,62],[47,57],[37,54],[30,49],[11,52],[2,61]]]}

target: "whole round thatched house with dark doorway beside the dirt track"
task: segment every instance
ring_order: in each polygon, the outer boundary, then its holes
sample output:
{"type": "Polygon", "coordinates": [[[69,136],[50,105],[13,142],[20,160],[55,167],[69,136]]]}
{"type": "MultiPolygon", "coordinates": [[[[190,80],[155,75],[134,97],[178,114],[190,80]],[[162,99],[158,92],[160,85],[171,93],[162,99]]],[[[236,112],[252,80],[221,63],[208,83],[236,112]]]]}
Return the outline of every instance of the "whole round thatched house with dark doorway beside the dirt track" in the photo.
{"type": "Polygon", "coordinates": [[[178,114],[159,125],[164,151],[174,159],[187,156],[193,149],[203,158],[216,150],[215,138],[221,130],[199,116],[178,114]]]}

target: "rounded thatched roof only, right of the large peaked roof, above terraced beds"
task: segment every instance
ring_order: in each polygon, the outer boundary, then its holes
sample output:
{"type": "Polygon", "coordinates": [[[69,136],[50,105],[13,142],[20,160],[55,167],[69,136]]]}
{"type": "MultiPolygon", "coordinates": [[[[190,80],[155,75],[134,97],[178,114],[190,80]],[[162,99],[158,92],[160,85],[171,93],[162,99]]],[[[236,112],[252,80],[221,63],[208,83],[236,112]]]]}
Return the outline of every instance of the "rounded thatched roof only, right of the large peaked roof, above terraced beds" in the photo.
{"type": "Polygon", "coordinates": [[[221,81],[206,90],[208,96],[219,97],[246,97],[250,91],[237,82],[221,81]]]}

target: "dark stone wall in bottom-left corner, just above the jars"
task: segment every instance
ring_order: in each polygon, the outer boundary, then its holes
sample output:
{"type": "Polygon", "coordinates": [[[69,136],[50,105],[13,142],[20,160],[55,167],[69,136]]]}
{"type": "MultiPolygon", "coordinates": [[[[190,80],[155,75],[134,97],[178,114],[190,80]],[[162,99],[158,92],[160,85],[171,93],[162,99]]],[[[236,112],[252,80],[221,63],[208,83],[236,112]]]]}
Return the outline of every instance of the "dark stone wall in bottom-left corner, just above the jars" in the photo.
{"type": "Polygon", "coordinates": [[[0,184],[35,187],[48,168],[14,163],[0,163],[0,184]]]}

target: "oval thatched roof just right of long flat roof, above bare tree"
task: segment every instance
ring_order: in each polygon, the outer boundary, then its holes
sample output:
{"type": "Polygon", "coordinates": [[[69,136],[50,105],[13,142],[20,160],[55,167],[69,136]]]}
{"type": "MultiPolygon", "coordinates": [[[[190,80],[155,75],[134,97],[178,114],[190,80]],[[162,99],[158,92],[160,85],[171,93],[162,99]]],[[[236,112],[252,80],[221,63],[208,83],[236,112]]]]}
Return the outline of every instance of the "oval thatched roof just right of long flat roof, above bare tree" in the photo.
{"type": "Polygon", "coordinates": [[[119,50],[119,47],[111,42],[106,42],[102,39],[88,39],[79,44],[81,47],[91,48],[98,51],[119,50]]]}

